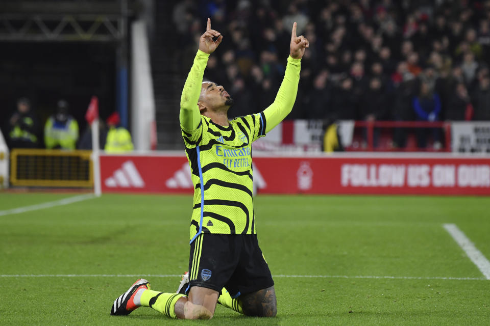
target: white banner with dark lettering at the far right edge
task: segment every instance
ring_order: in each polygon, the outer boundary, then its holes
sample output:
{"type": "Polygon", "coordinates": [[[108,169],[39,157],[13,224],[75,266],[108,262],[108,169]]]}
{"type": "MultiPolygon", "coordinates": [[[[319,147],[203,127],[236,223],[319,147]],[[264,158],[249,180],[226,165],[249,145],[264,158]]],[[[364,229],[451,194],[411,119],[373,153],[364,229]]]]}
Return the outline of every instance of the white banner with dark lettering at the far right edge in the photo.
{"type": "Polygon", "coordinates": [[[453,152],[490,153],[490,122],[452,122],[453,152]]]}

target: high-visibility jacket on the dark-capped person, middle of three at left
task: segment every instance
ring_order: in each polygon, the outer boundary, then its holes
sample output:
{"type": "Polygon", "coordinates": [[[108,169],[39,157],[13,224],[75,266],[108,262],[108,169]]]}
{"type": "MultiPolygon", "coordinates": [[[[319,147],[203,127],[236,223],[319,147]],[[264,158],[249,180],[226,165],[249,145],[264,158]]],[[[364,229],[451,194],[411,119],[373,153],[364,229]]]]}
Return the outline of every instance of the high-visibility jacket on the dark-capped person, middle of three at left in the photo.
{"type": "Polygon", "coordinates": [[[73,117],[68,117],[64,123],[50,117],[44,125],[44,143],[47,149],[60,147],[73,150],[76,148],[78,136],[78,123],[73,117]]]}

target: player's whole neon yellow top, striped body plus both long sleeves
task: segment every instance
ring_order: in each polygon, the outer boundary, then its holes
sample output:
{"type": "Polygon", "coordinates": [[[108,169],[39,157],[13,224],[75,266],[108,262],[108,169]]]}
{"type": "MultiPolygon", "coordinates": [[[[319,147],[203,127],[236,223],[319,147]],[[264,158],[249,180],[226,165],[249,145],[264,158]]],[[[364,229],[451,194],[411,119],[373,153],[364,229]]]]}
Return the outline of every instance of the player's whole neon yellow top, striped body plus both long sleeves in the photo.
{"type": "Polygon", "coordinates": [[[278,125],[296,99],[300,59],[287,59],[274,103],[224,127],[198,108],[209,55],[198,50],[181,97],[180,124],[194,185],[190,242],[201,233],[255,234],[252,143],[278,125]]]}

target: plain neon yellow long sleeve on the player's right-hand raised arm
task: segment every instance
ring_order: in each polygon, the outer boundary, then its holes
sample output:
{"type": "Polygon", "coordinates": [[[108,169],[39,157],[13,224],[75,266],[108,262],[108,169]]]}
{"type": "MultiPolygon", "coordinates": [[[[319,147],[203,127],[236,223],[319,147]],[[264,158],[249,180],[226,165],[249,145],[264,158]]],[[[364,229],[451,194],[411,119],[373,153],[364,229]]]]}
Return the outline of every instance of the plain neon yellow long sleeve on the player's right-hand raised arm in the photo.
{"type": "Polygon", "coordinates": [[[301,59],[287,58],[286,72],[276,99],[261,114],[263,116],[263,133],[271,131],[291,112],[298,93],[301,59]]]}

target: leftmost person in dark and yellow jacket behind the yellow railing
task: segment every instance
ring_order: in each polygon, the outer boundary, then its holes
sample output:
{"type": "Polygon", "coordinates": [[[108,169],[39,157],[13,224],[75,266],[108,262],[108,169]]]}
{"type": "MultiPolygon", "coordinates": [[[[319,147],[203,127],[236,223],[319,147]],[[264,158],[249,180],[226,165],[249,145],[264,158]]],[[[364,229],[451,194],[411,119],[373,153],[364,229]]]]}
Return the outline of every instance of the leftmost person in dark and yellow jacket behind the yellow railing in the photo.
{"type": "Polygon", "coordinates": [[[27,97],[17,100],[17,110],[10,117],[6,130],[7,144],[10,148],[38,147],[38,122],[31,112],[31,102],[27,97]]]}

